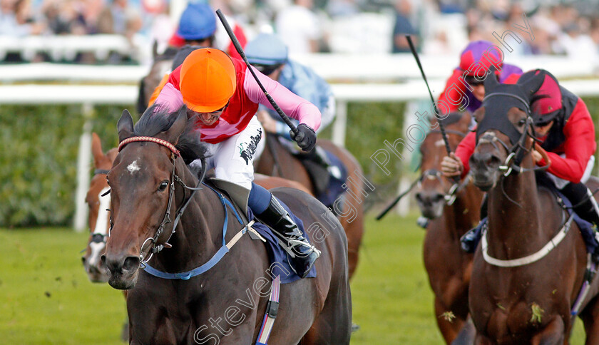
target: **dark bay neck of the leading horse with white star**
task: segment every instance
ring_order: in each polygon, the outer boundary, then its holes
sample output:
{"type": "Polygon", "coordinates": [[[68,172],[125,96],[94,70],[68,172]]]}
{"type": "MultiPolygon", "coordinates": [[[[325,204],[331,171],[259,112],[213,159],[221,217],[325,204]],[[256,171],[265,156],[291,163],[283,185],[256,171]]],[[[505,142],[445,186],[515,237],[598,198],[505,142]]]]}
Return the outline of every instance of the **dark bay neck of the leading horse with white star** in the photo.
{"type": "MultiPolygon", "coordinates": [[[[181,168],[178,170],[182,171],[181,168]]],[[[190,174],[191,172],[185,169],[179,176],[186,185],[195,187],[197,180],[190,174]]],[[[185,190],[176,182],[175,188],[173,202],[176,204],[176,210],[179,210],[192,191],[185,190]]],[[[169,243],[173,247],[163,249],[157,256],[162,268],[166,272],[186,272],[207,262],[220,248],[217,244],[220,244],[222,237],[220,230],[223,221],[217,217],[221,213],[222,206],[215,192],[208,187],[195,192],[193,200],[190,200],[178,222],[175,233],[170,237],[169,243]]],[[[171,214],[173,222],[175,217],[176,214],[171,214]]],[[[167,229],[171,228],[167,226],[167,229]]]]}

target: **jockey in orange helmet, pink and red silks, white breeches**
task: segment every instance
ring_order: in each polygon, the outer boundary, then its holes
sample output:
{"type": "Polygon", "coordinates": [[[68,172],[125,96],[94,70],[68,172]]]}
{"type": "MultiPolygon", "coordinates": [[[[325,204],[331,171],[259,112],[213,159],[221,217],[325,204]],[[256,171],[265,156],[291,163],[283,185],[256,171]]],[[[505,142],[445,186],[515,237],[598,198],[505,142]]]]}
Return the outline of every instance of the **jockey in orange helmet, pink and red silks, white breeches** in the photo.
{"type": "MultiPolygon", "coordinates": [[[[303,150],[316,143],[320,112],[312,103],[256,71],[260,82],[290,117],[299,120],[298,134],[292,135],[303,150]]],[[[192,51],[175,69],[156,100],[158,107],[174,111],[183,105],[195,119],[200,140],[207,143],[208,168],[215,176],[250,190],[248,206],[257,217],[287,239],[295,254],[292,269],[305,277],[320,252],[299,231],[290,215],[268,190],[252,182],[253,155],[262,128],[254,114],[258,104],[272,107],[265,93],[250,75],[245,63],[215,48],[192,51]]]]}

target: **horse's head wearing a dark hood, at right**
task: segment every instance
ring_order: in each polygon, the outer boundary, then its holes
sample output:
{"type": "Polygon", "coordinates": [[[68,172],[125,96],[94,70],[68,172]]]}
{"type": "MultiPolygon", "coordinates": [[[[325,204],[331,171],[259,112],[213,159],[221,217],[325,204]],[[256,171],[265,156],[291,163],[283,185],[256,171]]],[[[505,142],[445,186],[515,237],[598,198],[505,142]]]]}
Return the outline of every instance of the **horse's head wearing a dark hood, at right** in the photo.
{"type": "Polygon", "coordinates": [[[500,84],[492,77],[485,79],[486,96],[481,108],[474,112],[478,122],[476,149],[469,161],[474,185],[481,190],[490,190],[501,175],[520,170],[533,145],[529,105],[533,91],[541,83],[543,78],[517,84],[500,84]]]}

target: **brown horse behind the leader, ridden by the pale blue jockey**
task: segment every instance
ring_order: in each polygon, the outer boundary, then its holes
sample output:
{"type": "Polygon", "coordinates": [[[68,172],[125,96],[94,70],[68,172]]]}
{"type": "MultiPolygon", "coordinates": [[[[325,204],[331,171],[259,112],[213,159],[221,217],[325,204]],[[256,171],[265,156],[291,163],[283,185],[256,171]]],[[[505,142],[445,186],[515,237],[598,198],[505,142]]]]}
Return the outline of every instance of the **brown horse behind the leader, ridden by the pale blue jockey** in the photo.
{"type": "MultiPolygon", "coordinates": [[[[314,186],[308,172],[301,161],[290,153],[278,140],[277,136],[268,134],[262,137],[267,140],[267,145],[255,162],[256,172],[269,176],[278,176],[287,180],[297,181],[312,191],[314,186]]],[[[349,277],[353,277],[358,264],[358,254],[362,236],[364,235],[364,173],[356,158],[349,151],[341,148],[329,140],[318,139],[318,145],[336,155],[347,168],[347,189],[338,199],[337,219],[341,222],[347,236],[347,252],[349,254],[349,277]]],[[[373,187],[374,188],[374,187],[373,187]]]]}

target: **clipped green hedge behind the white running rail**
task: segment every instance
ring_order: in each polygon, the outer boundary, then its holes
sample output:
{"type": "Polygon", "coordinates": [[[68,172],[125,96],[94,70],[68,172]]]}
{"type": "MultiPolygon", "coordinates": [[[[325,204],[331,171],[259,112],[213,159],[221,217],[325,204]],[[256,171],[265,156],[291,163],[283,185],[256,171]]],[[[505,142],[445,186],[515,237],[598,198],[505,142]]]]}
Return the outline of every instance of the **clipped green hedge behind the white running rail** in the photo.
{"type": "MultiPolygon", "coordinates": [[[[585,102],[597,123],[599,98],[585,102]]],[[[118,143],[116,123],[123,108],[132,113],[135,109],[133,105],[94,108],[92,130],[100,135],[104,150],[118,143]]],[[[370,199],[384,202],[396,193],[400,173],[410,166],[391,157],[391,175],[385,175],[370,156],[384,148],[384,140],[404,137],[404,104],[349,103],[347,116],[346,146],[367,178],[379,186],[378,197],[370,199]]],[[[0,120],[0,227],[71,225],[78,145],[85,123],[81,105],[2,105],[0,120]]],[[[599,126],[595,130],[599,132],[599,126]]],[[[328,128],[322,136],[330,133],[328,128]]]]}

